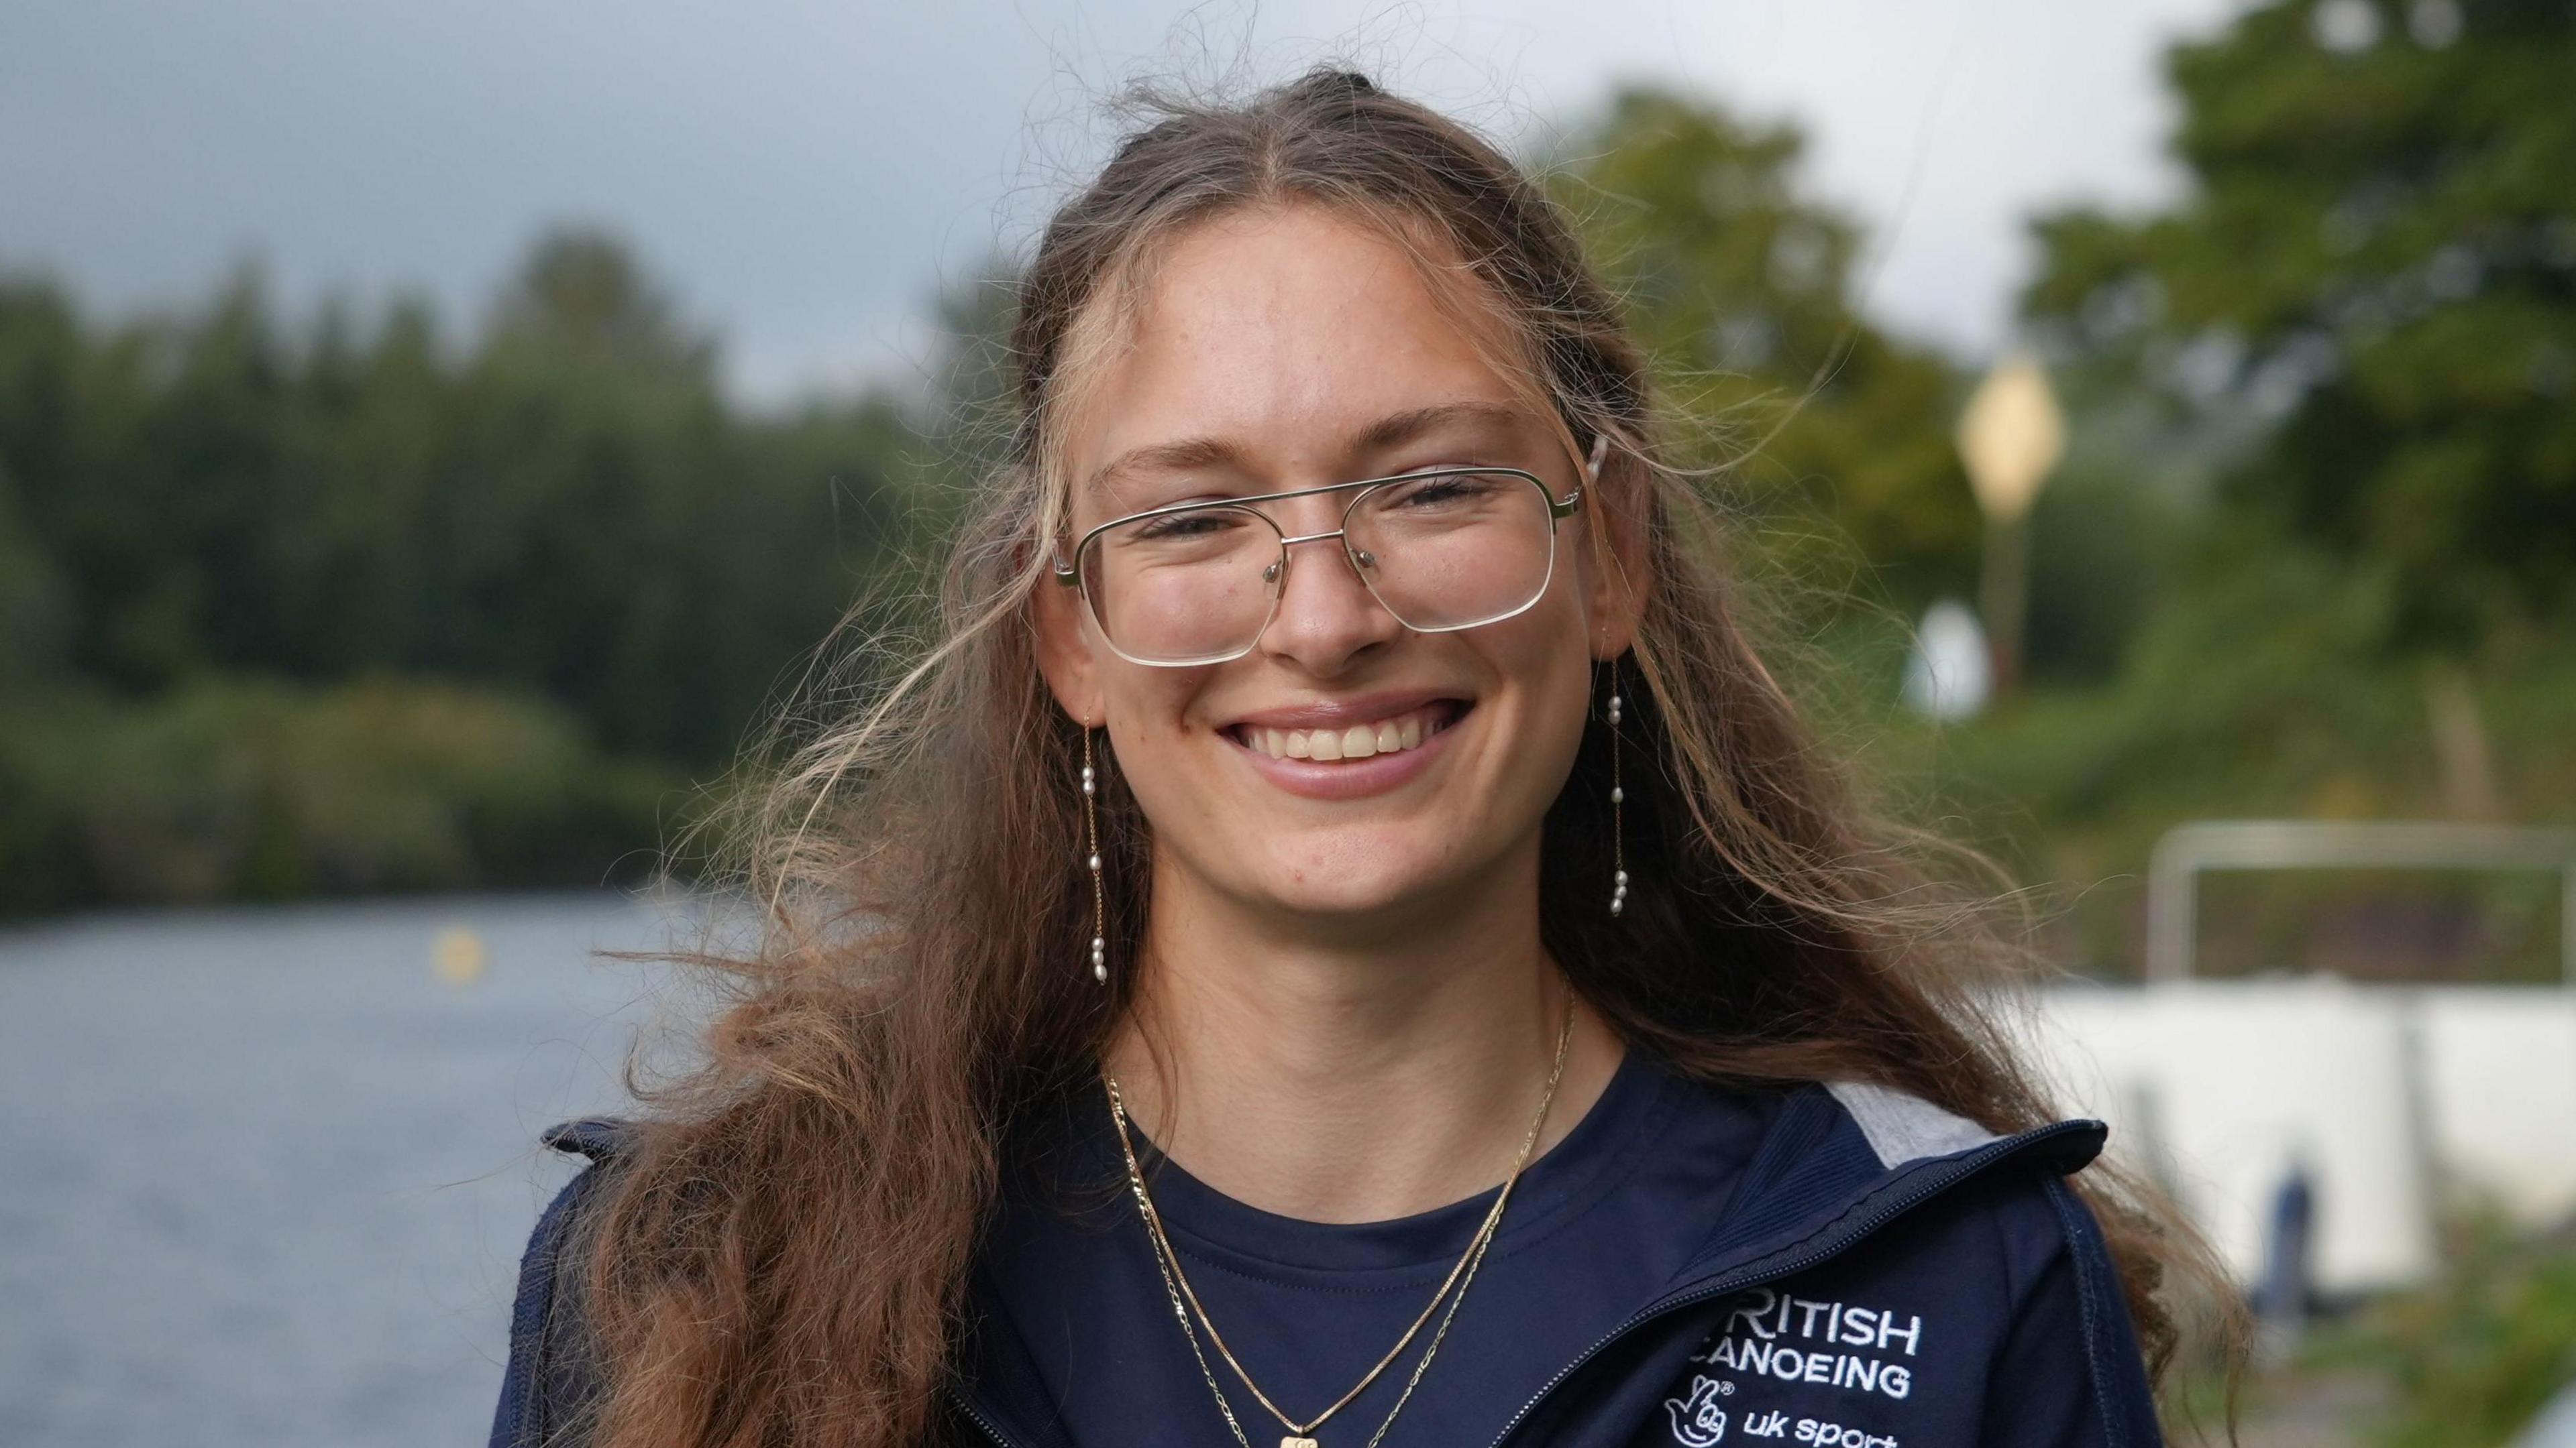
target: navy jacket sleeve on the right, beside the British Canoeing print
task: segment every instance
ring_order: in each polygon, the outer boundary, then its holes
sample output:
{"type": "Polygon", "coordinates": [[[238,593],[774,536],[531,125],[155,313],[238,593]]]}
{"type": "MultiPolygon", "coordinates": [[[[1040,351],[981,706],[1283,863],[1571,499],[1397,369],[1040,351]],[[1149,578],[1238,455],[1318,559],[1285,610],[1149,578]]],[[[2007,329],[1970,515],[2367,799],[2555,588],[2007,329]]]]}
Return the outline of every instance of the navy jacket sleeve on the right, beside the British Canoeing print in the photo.
{"type": "Polygon", "coordinates": [[[1994,1358],[1986,1384],[1989,1448],[2161,1448],[2156,1394],[2120,1275],[2084,1201],[2048,1180],[2063,1237],[1994,1358]]]}

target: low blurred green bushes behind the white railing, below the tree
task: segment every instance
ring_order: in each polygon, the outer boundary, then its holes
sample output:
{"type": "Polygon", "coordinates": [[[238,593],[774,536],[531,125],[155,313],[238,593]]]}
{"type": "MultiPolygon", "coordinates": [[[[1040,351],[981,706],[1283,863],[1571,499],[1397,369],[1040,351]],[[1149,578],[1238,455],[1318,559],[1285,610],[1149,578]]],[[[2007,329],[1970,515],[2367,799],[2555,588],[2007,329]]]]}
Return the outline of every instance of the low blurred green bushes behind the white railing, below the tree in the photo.
{"type": "MultiPolygon", "coordinates": [[[[2568,639],[2519,629],[2452,665],[2393,660],[2380,644],[2398,608],[2385,580],[2318,551],[2192,538],[2164,567],[2115,678],[2035,685],[1963,727],[1888,716],[1870,734],[1873,763],[1929,799],[1945,830],[1996,850],[2022,881],[2069,891],[2050,897],[2063,907],[2058,958],[2133,969],[2146,861],[2179,822],[2450,814],[2432,709],[2445,680],[2476,698],[2509,809],[2576,809],[2568,639]]],[[[2226,879],[2202,907],[2200,953],[2215,974],[2555,979],[2548,876],[2259,876],[2233,891],[2226,879]],[[2372,912],[2396,915],[2383,915],[2385,940],[2336,943],[2372,912]]]]}

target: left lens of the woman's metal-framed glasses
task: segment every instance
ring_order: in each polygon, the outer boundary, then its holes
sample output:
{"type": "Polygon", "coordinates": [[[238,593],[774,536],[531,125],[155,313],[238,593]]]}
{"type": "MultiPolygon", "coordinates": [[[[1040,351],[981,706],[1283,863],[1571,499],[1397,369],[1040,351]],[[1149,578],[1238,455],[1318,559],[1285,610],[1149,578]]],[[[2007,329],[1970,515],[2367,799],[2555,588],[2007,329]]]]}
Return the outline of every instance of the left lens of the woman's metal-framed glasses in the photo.
{"type": "Polygon", "coordinates": [[[1082,590],[1110,647],[1157,665],[1242,654],[1270,621],[1280,531],[1249,508],[1139,518],[1082,549],[1082,590]]]}

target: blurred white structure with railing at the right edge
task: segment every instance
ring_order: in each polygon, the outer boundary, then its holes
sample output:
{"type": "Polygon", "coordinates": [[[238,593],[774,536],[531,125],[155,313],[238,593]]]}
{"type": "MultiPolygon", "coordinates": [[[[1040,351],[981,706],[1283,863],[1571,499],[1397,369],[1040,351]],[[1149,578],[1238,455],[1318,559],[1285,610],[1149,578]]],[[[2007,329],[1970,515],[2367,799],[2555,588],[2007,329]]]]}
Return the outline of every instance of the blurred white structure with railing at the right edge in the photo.
{"type": "Polygon", "coordinates": [[[2329,1293],[2429,1275],[2452,1193],[2530,1226],[2576,1216],[2576,987],[2190,979],[2197,871],[2336,863],[2555,868],[2576,971],[2571,830],[2187,824],[2156,850],[2148,987],[2058,987],[2032,1023],[2061,1098],[2112,1123],[2241,1281],[2306,1170],[2329,1293]]]}

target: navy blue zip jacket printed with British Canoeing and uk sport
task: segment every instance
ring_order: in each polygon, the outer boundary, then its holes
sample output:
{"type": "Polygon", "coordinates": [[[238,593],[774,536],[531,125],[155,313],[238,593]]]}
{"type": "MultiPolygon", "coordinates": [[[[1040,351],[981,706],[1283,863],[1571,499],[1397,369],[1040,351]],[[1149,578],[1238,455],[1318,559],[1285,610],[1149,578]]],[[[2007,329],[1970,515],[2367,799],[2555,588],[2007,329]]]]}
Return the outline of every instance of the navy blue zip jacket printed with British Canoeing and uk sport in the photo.
{"type": "MultiPolygon", "coordinates": [[[[492,1448],[580,1443],[598,1376],[562,1247],[616,1139],[595,1121],[549,1134],[595,1165],[528,1244],[492,1448]]],[[[1494,1448],[2156,1448],[2102,1229],[2063,1180],[2102,1139],[2097,1121],[1991,1136],[1850,1082],[1790,1095],[1695,1260],[1494,1448]]],[[[1072,1448],[1007,1335],[969,1335],[948,1412],[961,1443],[1072,1448]]],[[[1200,1440],[1221,1443],[1198,1415],[1136,1427],[1200,1440]]]]}

